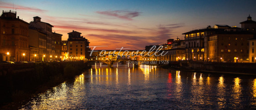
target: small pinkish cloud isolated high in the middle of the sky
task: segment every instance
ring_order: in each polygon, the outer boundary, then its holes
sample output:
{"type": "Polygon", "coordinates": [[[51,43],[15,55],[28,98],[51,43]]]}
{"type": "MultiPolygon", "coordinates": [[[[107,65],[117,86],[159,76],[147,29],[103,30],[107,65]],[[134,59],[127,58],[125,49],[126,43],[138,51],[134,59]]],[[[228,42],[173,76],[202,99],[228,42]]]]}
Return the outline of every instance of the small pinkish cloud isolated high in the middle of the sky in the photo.
{"type": "Polygon", "coordinates": [[[98,14],[114,16],[117,18],[125,19],[125,20],[133,20],[132,18],[139,16],[140,12],[138,11],[96,11],[98,14]]]}

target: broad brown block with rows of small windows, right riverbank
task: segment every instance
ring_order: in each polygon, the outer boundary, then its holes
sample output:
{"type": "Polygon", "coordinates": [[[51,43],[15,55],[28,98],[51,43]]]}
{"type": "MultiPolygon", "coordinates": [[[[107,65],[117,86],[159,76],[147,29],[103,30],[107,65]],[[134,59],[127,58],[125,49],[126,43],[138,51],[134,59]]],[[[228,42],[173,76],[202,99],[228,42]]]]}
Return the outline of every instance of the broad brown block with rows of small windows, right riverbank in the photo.
{"type": "Polygon", "coordinates": [[[208,35],[207,61],[244,62],[248,60],[248,39],[253,34],[245,31],[222,31],[208,35]]]}

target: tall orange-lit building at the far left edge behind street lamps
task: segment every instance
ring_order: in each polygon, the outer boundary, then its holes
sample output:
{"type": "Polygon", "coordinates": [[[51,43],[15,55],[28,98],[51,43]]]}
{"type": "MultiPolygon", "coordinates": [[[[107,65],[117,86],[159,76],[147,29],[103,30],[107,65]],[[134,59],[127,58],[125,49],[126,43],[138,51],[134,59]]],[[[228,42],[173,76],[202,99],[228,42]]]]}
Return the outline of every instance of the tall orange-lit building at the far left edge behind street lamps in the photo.
{"type": "Polygon", "coordinates": [[[29,59],[29,23],[16,15],[16,11],[10,10],[3,11],[0,16],[0,61],[18,62],[29,59]]]}

